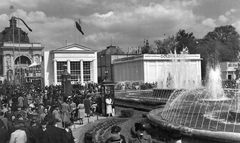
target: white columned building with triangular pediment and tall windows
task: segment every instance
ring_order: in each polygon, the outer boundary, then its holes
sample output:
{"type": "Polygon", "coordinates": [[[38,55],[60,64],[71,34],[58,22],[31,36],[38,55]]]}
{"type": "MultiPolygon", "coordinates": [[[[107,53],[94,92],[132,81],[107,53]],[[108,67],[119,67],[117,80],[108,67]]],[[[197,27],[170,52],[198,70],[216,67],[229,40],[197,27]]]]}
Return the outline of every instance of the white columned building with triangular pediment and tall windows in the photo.
{"type": "Polygon", "coordinates": [[[60,85],[64,65],[67,65],[72,84],[97,82],[97,52],[79,44],[72,44],[44,51],[44,85],[60,85]]]}

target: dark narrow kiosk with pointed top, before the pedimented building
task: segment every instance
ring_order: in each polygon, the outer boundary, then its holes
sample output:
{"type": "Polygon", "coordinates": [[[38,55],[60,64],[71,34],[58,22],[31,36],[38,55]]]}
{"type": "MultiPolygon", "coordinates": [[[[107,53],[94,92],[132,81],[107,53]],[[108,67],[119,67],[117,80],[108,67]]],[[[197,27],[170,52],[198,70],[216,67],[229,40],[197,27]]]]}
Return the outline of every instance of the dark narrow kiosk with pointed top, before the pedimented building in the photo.
{"type": "Polygon", "coordinates": [[[68,97],[72,95],[71,75],[67,72],[67,65],[63,65],[64,71],[61,75],[62,79],[62,95],[68,97]]]}

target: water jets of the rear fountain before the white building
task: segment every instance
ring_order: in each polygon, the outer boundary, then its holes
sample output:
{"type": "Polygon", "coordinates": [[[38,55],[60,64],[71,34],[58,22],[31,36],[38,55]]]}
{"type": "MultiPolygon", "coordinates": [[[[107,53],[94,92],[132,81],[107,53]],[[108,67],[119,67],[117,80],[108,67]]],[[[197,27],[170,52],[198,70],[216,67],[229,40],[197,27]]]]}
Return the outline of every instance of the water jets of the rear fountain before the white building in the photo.
{"type": "Polygon", "coordinates": [[[201,81],[198,81],[196,74],[193,74],[196,68],[196,63],[188,60],[187,55],[178,55],[176,52],[170,54],[172,62],[166,62],[164,67],[160,69],[161,73],[157,79],[157,88],[159,89],[190,89],[201,86],[201,81]]]}

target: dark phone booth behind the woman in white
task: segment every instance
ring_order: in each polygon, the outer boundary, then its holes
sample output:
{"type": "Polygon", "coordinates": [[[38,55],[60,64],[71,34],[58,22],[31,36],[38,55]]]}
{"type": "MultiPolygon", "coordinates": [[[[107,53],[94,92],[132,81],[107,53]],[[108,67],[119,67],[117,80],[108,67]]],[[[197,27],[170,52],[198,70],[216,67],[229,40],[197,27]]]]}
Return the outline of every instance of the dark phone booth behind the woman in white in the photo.
{"type": "Polygon", "coordinates": [[[109,95],[110,98],[112,98],[113,100],[113,107],[115,106],[115,91],[114,91],[114,87],[115,87],[115,83],[113,83],[112,81],[103,81],[101,84],[101,102],[102,102],[102,115],[106,116],[106,97],[109,95]]]}

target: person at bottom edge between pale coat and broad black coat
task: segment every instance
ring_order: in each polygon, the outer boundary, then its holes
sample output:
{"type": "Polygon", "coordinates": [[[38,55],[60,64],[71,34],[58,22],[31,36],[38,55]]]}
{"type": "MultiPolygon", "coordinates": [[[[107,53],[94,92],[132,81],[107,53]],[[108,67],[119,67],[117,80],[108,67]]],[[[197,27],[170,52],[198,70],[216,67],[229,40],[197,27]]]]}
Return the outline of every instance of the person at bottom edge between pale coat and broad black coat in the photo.
{"type": "Polygon", "coordinates": [[[41,125],[37,128],[37,136],[36,136],[36,143],[44,143],[44,136],[47,130],[47,122],[41,122],[41,125]]]}

